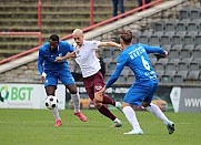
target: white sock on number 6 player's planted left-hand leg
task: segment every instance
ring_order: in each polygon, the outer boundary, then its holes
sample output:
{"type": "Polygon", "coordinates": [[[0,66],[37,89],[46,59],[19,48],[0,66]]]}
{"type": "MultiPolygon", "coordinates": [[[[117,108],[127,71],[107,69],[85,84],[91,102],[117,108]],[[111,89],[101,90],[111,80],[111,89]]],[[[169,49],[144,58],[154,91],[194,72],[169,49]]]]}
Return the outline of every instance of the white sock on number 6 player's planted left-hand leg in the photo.
{"type": "Polygon", "coordinates": [[[137,116],[135,116],[133,108],[131,106],[125,106],[125,107],[123,107],[122,111],[123,111],[127,120],[129,121],[129,123],[132,125],[132,127],[134,130],[139,130],[140,125],[138,123],[138,120],[137,120],[137,116]]]}

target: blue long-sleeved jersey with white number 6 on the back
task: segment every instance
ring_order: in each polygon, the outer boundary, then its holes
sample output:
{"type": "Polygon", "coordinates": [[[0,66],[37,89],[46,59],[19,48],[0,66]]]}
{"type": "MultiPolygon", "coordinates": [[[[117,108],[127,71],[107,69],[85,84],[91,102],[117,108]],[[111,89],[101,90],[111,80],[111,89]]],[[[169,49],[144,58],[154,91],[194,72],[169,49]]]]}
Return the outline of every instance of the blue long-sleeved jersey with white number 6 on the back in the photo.
{"type": "Polygon", "coordinates": [[[148,53],[164,54],[165,51],[159,46],[149,46],[145,44],[132,44],[125,48],[118,56],[115,70],[108,81],[107,87],[110,87],[118,80],[124,66],[129,66],[132,70],[135,75],[135,82],[157,80],[157,74],[148,53]]]}

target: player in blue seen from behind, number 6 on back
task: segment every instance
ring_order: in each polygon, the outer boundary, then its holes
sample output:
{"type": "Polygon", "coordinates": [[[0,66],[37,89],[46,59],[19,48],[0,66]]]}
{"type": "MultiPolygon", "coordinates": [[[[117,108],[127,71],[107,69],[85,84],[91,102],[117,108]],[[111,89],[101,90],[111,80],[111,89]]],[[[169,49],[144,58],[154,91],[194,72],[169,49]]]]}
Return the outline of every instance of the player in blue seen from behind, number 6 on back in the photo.
{"type": "Polygon", "coordinates": [[[122,45],[123,51],[118,56],[114,72],[111,74],[107,85],[100,93],[104,93],[104,91],[118,80],[123,68],[129,66],[135,75],[135,82],[131,85],[124,96],[122,111],[133,130],[124,134],[143,134],[135,117],[134,110],[131,107],[132,105],[142,105],[145,110],[153,113],[167,125],[169,134],[172,134],[174,132],[173,122],[169,121],[161,110],[155,104],[151,103],[158,87],[158,79],[148,55],[148,53],[159,53],[167,56],[168,52],[159,46],[149,46],[140,43],[132,44],[132,33],[129,30],[123,31],[120,35],[120,44],[122,45]]]}

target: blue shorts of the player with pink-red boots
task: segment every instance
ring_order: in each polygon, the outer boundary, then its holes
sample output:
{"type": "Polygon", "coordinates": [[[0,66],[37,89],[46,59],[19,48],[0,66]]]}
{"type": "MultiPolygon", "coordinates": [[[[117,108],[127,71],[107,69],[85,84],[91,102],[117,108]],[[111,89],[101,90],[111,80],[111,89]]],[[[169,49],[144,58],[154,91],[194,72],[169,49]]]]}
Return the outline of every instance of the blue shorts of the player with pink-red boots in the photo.
{"type": "Polygon", "coordinates": [[[44,80],[44,87],[48,85],[58,85],[58,80],[61,81],[62,84],[76,84],[74,79],[69,70],[62,70],[58,72],[46,71],[46,80],[44,80]]]}

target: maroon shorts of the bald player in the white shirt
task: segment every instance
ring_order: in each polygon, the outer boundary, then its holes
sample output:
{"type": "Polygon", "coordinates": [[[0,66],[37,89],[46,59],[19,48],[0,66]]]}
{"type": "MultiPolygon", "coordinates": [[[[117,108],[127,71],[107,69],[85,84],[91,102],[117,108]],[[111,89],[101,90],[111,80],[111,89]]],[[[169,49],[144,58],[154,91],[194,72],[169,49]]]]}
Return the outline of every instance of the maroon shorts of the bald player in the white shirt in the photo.
{"type": "Polygon", "coordinates": [[[89,97],[93,100],[94,93],[99,92],[104,86],[104,79],[102,76],[102,73],[99,71],[89,77],[84,77],[83,85],[87,90],[89,97]]]}

